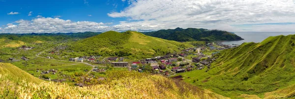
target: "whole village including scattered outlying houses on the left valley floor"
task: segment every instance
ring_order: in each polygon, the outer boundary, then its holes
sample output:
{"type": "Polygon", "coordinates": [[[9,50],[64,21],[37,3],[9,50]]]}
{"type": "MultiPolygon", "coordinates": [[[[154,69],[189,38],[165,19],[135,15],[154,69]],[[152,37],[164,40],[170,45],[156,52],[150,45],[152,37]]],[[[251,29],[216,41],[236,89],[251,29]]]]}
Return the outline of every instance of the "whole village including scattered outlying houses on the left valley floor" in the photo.
{"type": "MultiPolygon", "coordinates": [[[[89,74],[89,76],[95,77],[97,74],[106,74],[107,71],[110,71],[107,67],[114,68],[125,68],[128,71],[135,72],[148,72],[150,74],[162,74],[164,76],[174,76],[184,72],[198,71],[207,69],[210,70],[211,63],[215,61],[214,55],[218,54],[221,50],[231,49],[236,47],[236,45],[223,45],[220,42],[211,42],[207,43],[204,46],[198,46],[194,48],[184,49],[177,53],[170,53],[164,56],[155,56],[145,59],[140,59],[132,61],[126,57],[117,57],[117,56],[101,56],[101,55],[90,55],[90,56],[80,56],[80,57],[70,57],[70,56],[61,56],[60,50],[66,49],[66,46],[58,46],[54,49],[45,50],[44,52],[39,52],[36,56],[43,58],[55,59],[55,56],[64,57],[68,60],[60,61],[69,61],[74,63],[85,63],[91,67],[90,70],[84,69],[83,72],[89,74]]],[[[34,49],[32,47],[22,46],[20,50],[30,50],[34,49]]],[[[21,60],[28,61],[29,57],[11,57],[7,59],[10,62],[18,62],[21,60]]],[[[22,62],[24,66],[27,66],[26,62],[22,62]]],[[[54,66],[53,66],[54,67],[54,66]]],[[[67,80],[73,80],[70,75],[64,74],[59,69],[48,68],[46,70],[36,69],[36,73],[39,73],[39,78],[44,80],[52,80],[56,82],[63,82],[67,80]],[[59,72],[58,72],[59,71],[59,72]],[[47,75],[51,76],[60,76],[59,79],[51,79],[47,75]]],[[[81,74],[78,74],[79,76],[81,74]]],[[[104,77],[101,77],[103,79],[104,77]]],[[[81,83],[77,83],[78,86],[83,86],[81,83]]]]}

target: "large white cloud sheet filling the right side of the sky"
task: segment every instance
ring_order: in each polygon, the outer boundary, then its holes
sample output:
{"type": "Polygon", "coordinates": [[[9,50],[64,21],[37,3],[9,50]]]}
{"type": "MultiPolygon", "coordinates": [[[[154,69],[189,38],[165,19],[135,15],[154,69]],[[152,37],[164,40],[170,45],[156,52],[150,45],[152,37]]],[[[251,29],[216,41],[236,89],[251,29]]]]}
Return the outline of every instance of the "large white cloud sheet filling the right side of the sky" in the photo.
{"type": "Polygon", "coordinates": [[[295,4],[292,0],[128,0],[128,2],[131,4],[124,10],[110,12],[108,15],[130,20],[129,23],[121,25],[145,25],[150,29],[155,26],[242,30],[231,25],[295,22],[295,4]]]}

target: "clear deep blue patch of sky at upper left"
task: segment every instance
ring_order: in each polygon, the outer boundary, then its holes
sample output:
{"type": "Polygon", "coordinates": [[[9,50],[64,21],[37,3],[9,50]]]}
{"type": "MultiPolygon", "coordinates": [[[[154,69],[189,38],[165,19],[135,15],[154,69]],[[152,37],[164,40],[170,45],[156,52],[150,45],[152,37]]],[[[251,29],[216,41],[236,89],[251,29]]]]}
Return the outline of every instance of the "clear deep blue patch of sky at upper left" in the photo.
{"type": "Polygon", "coordinates": [[[72,21],[92,21],[118,24],[122,18],[112,18],[107,13],[119,11],[128,5],[121,0],[1,0],[0,25],[20,19],[31,20],[38,15],[43,17],[60,16],[61,19],[72,21]],[[31,16],[28,16],[32,11],[31,16]],[[19,12],[17,15],[7,15],[19,12]],[[88,16],[88,15],[91,15],[88,16]]]}

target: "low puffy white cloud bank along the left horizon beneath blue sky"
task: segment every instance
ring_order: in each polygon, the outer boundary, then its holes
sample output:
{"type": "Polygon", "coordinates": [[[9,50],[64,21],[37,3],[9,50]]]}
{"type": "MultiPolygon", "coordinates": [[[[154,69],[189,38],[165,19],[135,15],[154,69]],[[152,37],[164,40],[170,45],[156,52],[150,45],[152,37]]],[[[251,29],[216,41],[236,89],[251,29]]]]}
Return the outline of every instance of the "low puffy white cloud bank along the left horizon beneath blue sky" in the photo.
{"type": "Polygon", "coordinates": [[[59,18],[36,18],[32,20],[18,20],[15,25],[7,24],[0,32],[10,33],[58,33],[58,32],[85,32],[117,30],[109,24],[88,21],[72,22],[59,18]]]}

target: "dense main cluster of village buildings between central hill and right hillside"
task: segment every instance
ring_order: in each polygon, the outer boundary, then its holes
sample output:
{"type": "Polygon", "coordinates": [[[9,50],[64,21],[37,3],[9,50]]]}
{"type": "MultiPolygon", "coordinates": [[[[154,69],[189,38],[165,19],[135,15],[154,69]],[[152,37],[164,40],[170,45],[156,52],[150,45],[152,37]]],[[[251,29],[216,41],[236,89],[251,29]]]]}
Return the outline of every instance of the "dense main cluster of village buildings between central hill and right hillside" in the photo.
{"type": "MultiPolygon", "coordinates": [[[[73,62],[89,62],[99,64],[99,66],[111,66],[127,68],[129,71],[149,72],[151,74],[163,74],[173,76],[177,73],[202,70],[207,67],[209,71],[211,63],[215,60],[212,56],[218,54],[220,50],[231,49],[235,45],[223,45],[220,42],[207,43],[206,46],[200,46],[182,50],[181,52],[168,54],[165,56],[156,56],[138,61],[126,62],[124,57],[108,57],[101,59],[102,56],[81,56],[69,58],[73,62]],[[207,52],[204,54],[202,51],[207,52]],[[209,54],[208,54],[209,52],[209,54]]],[[[52,58],[52,57],[47,57],[52,58]]],[[[97,67],[92,72],[105,72],[105,69],[97,67]]]]}

